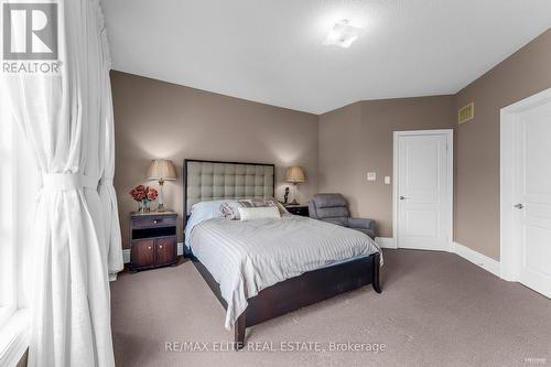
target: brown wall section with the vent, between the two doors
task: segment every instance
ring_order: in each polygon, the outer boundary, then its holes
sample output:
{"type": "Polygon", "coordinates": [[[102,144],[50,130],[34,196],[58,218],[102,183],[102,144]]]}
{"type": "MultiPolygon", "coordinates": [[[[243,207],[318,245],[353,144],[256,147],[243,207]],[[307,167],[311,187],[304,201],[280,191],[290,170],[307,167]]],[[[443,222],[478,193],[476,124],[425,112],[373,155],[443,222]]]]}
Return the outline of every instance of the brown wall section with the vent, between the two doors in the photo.
{"type": "Polygon", "coordinates": [[[461,90],[455,110],[455,241],[499,260],[499,111],[551,87],[551,30],[461,90]]]}

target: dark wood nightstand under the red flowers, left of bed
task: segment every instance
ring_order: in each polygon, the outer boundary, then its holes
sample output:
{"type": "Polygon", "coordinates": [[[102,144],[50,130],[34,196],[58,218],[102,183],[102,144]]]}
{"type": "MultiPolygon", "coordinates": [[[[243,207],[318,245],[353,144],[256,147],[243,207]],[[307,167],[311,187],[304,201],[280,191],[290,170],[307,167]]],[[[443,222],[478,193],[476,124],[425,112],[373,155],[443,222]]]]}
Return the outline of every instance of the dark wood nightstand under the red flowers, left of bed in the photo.
{"type": "Polygon", "coordinates": [[[177,214],[130,214],[130,271],[177,263],[177,214]]]}

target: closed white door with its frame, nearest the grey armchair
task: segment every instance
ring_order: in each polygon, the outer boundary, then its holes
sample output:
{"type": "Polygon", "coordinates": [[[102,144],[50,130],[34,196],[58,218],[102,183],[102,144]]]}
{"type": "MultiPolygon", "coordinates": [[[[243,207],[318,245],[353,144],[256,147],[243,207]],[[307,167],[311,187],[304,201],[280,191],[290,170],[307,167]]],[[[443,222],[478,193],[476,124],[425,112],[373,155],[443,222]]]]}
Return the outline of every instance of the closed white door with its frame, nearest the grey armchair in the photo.
{"type": "Polygon", "coordinates": [[[452,133],[395,132],[395,234],[399,248],[451,248],[452,133]]]}

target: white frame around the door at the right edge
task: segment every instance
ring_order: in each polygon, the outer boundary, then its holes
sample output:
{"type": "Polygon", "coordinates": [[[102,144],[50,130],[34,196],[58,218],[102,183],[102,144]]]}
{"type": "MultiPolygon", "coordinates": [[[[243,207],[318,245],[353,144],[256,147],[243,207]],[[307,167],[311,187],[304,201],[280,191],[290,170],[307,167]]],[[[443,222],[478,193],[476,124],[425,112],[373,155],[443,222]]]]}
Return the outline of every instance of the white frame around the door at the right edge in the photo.
{"type": "Polygon", "coordinates": [[[499,262],[501,278],[518,281],[521,266],[521,244],[515,235],[515,159],[518,151],[518,114],[551,101],[551,88],[516,104],[501,108],[500,112],[500,229],[499,262]]]}

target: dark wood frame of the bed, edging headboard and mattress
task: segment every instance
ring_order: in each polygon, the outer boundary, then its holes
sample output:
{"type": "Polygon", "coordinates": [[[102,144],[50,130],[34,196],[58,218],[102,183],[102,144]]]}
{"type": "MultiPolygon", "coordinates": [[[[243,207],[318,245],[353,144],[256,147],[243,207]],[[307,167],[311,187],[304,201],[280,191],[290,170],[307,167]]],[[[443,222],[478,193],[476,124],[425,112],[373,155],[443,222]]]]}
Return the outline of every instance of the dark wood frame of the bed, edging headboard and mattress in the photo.
{"type": "MultiPolygon", "coordinates": [[[[205,160],[184,160],[184,226],[187,217],[187,162],[231,163],[248,165],[269,165],[263,163],[248,162],[224,162],[205,160]]],[[[276,181],[276,168],[273,171],[276,181]]],[[[276,185],[273,186],[276,187],[276,185]]],[[[184,246],[185,256],[190,257],[205,282],[210,287],[214,294],[227,309],[226,300],[222,296],[220,287],[215,281],[205,266],[184,246]]],[[[288,312],[314,304],[334,295],[355,290],[357,288],[372,284],[377,293],[381,292],[380,279],[380,255],[372,253],[369,257],[347,261],[332,267],[326,267],[303,273],[302,276],[288,279],[261,290],[257,295],[247,300],[247,310],[237,319],[234,326],[236,350],[244,347],[245,331],[249,326],[257,325],[263,321],[281,316],[288,312]]]]}

